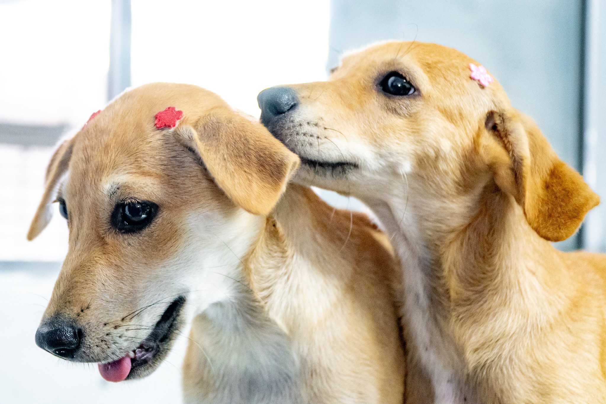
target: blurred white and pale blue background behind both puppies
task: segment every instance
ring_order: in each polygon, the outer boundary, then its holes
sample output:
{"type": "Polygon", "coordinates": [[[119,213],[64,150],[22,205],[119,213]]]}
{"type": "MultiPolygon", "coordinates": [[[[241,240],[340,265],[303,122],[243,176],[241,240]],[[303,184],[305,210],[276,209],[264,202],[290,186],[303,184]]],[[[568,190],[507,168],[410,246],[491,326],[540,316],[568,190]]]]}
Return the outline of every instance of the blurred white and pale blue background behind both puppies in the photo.
{"type": "MultiPolygon", "coordinates": [[[[34,343],[67,226],[55,214],[35,241],[25,233],[59,136],[151,81],[201,85],[258,116],[262,89],[324,80],[342,53],[384,39],[481,61],[606,199],[604,0],[0,0],[0,403],[181,401],[184,339],[156,373],[117,384],[34,343]]],[[[606,251],[605,208],[586,223],[558,247],[606,251]]]]}

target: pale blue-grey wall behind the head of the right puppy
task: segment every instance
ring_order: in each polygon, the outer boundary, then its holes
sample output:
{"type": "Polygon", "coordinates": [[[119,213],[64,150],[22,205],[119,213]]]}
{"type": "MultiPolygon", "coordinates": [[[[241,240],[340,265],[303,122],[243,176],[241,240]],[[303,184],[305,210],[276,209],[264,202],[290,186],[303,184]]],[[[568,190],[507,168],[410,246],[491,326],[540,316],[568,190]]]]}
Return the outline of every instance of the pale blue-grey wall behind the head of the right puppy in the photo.
{"type": "MultiPolygon", "coordinates": [[[[514,107],[532,116],[559,156],[581,171],[584,1],[332,0],[331,5],[327,68],[338,65],[341,53],[385,39],[457,48],[490,69],[514,107]]],[[[558,243],[564,250],[578,245],[578,236],[558,243]]]]}

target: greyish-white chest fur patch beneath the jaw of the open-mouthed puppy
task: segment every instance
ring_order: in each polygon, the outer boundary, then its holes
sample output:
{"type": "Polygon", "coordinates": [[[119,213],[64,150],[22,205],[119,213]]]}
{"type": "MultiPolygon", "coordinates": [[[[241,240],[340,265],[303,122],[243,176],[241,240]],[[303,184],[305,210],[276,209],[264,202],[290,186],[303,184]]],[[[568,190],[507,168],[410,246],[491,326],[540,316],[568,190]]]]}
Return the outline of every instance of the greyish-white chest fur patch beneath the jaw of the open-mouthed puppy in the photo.
{"type": "MultiPolygon", "coordinates": [[[[250,294],[241,290],[240,294],[250,294]]],[[[301,403],[290,338],[252,296],[211,305],[193,322],[185,372],[188,403],[301,403]]]]}

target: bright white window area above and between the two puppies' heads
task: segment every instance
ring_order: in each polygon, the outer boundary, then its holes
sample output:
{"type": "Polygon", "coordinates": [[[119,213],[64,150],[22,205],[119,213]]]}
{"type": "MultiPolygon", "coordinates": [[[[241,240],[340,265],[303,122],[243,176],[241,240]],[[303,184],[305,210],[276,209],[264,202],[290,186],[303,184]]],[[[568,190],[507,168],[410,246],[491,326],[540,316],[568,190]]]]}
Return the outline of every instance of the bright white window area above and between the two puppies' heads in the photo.
{"type": "Polygon", "coordinates": [[[196,84],[259,116],[277,84],[326,79],[330,2],[133,0],[133,85],[196,84]]]}

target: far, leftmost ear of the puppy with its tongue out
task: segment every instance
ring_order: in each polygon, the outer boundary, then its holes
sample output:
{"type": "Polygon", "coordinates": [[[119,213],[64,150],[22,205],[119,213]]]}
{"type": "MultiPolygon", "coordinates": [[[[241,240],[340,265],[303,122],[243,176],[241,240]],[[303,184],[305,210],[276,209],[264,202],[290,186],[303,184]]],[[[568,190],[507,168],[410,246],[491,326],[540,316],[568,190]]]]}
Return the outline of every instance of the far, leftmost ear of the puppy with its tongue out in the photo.
{"type": "Polygon", "coordinates": [[[68,139],[59,145],[50,158],[46,169],[44,194],[42,194],[42,200],[38,205],[38,210],[36,210],[32,224],[30,224],[30,230],[27,231],[27,239],[30,241],[35,239],[44,230],[53,217],[53,198],[55,197],[59,179],[65,174],[70,164],[72,148],[72,139],[68,139]]]}

